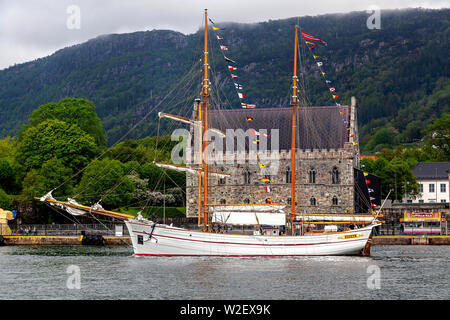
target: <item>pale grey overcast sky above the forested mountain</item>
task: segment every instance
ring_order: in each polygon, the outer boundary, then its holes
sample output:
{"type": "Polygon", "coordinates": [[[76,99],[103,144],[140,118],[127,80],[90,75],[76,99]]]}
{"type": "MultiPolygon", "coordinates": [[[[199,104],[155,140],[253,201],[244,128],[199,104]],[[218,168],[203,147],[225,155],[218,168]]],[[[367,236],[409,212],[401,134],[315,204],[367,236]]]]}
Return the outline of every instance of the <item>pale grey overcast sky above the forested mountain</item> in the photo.
{"type": "Polygon", "coordinates": [[[374,5],[436,9],[449,8],[450,0],[0,0],[0,69],[102,34],[152,29],[193,33],[202,25],[205,8],[216,23],[250,23],[366,11],[374,5]]]}

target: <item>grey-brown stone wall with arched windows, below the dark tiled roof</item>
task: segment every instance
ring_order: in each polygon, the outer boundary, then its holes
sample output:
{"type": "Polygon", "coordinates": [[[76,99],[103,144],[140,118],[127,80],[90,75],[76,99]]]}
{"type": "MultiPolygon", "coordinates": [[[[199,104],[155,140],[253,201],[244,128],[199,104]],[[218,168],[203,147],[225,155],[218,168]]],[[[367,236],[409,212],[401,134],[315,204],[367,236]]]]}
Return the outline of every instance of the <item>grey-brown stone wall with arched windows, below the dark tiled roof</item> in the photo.
{"type": "MultiPolygon", "coordinates": [[[[354,156],[350,144],[339,150],[298,150],[296,152],[296,203],[298,212],[306,213],[342,213],[354,210],[354,156]],[[332,181],[332,171],[339,173],[338,183],[332,181]],[[309,172],[315,170],[316,181],[310,183],[309,172]],[[316,201],[311,204],[311,198],[316,201]],[[333,203],[333,198],[335,202],[333,203]],[[336,204],[337,201],[337,204],[336,204]]],[[[212,160],[212,159],[211,159],[212,160]]],[[[224,159],[227,160],[226,158],[224,159]]],[[[212,161],[210,162],[212,163],[212,161]]],[[[291,152],[281,151],[278,167],[274,162],[264,162],[266,168],[260,168],[258,162],[244,164],[210,164],[210,171],[231,174],[219,179],[209,178],[210,204],[258,204],[272,199],[273,203],[285,204],[290,210],[291,183],[289,169],[291,152]],[[271,171],[271,169],[275,169],[271,171]],[[246,183],[245,174],[250,174],[250,182],[246,183]],[[288,173],[288,174],[287,174],[288,173]],[[270,183],[263,182],[264,176],[270,176],[270,183]],[[288,180],[286,179],[288,176],[288,180]],[[271,191],[266,192],[265,187],[271,191]]],[[[203,188],[201,190],[203,199],[203,188]]],[[[187,174],[187,216],[196,217],[198,210],[198,175],[187,174]]]]}

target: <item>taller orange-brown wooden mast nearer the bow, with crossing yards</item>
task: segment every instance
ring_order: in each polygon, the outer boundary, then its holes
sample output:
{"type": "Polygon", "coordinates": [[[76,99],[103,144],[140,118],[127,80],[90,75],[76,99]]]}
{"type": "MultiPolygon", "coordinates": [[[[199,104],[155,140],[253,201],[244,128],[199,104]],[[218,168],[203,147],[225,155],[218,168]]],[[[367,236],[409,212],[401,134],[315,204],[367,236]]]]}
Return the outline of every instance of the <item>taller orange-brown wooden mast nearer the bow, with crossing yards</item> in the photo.
{"type": "Polygon", "coordinates": [[[208,230],[208,111],[209,111],[209,65],[208,65],[208,9],[205,9],[205,50],[204,50],[204,78],[203,78],[203,225],[208,230]]]}

